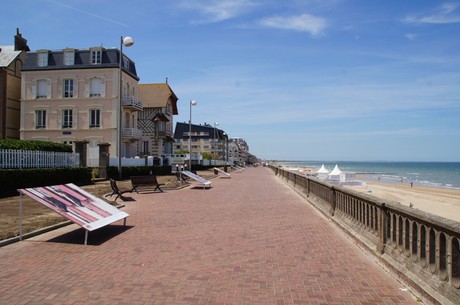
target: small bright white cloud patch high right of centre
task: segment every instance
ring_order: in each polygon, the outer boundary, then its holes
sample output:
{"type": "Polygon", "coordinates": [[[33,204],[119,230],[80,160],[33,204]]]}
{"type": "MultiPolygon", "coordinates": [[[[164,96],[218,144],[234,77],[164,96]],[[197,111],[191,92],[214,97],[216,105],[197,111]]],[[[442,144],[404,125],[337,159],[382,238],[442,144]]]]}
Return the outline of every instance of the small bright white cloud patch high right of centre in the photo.
{"type": "Polygon", "coordinates": [[[282,30],[308,32],[313,36],[319,36],[322,35],[326,29],[327,21],[321,17],[302,14],[290,17],[268,17],[260,20],[259,25],[282,30]]]}

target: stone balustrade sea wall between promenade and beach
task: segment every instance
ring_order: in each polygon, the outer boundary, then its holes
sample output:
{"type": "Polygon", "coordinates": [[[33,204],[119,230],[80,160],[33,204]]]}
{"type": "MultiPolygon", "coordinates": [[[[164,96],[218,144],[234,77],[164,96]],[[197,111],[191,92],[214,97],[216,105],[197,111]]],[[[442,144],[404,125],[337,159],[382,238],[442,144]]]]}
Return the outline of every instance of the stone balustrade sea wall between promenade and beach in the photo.
{"type": "Polygon", "coordinates": [[[269,167],[425,299],[460,304],[460,223],[269,167]]]}

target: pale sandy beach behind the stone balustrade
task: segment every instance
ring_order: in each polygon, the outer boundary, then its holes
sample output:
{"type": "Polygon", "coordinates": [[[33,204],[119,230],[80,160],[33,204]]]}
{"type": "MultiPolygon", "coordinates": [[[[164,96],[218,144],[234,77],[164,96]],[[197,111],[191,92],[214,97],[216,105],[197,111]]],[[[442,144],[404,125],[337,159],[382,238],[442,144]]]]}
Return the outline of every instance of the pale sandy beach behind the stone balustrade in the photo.
{"type": "Polygon", "coordinates": [[[349,188],[460,222],[460,190],[378,182],[349,188]]]}

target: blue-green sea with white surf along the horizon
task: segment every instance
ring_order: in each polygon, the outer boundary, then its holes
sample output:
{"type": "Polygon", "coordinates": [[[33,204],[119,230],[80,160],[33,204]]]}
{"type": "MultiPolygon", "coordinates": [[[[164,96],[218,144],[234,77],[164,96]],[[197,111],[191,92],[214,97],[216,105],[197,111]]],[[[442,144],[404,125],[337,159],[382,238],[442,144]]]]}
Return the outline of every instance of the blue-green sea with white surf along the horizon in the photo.
{"type": "Polygon", "coordinates": [[[460,162],[358,162],[358,161],[276,161],[288,168],[330,172],[337,165],[342,172],[354,173],[364,181],[412,184],[414,186],[460,189],[460,162]]]}

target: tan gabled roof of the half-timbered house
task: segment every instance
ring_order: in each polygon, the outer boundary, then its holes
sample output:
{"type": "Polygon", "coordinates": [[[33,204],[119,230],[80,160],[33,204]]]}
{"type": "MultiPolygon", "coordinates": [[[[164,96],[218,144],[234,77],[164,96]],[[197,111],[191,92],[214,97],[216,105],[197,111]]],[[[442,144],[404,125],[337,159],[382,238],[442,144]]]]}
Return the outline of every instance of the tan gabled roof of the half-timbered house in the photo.
{"type": "Polygon", "coordinates": [[[168,83],[139,84],[139,98],[144,108],[166,107],[168,100],[171,98],[173,114],[178,114],[178,98],[168,83]]]}

